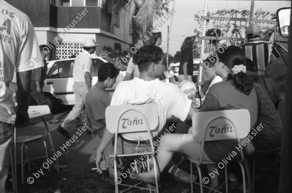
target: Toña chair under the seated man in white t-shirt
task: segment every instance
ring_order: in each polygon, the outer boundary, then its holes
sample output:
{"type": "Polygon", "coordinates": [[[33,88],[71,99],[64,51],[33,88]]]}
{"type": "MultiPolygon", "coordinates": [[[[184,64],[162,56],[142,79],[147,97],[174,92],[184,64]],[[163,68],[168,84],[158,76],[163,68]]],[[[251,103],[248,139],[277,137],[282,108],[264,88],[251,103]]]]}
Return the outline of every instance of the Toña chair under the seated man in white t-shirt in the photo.
{"type": "MultiPolygon", "coordinates": [[[[107,129],[110,133],[115,134],[114,141],[114,154],[110,155],[110,157],[114,158],[114,177],[115,177],[115,192],[119,193],[118,185],[127,186],[128,189],[121,191],[120,193],[127,192],[129,189],[135,187],[142,190],[158,191],[158,179],[157,179],[157,163],[154,157],[155,150],[153,146],[153,135],[150,131],[156,129],[158,125],[158,111],[157,106],[154,103],[148,103],[144,105],[117,105],[117,106],[109,106],[106,109],[106,123],[107,129]],[[123,118],[129,118],[131,120],[131,124],[127,123],[127,127],[123,127],[124,121],[123,118]],[[135,121],[134,121],[135,120],[135,121]],[[141,120],[141,121],[140,121],[141,120]],[[143,123],[143,124],[141,124],[143,123]],[[146,131],[148,133],[149,141],[151,144],[151,152],[143,152],[143,153],[135,153],[135,154],[117,154],[117,139],[119,134],[123,133],[135,133],[146,131]],[[147,157],[147,168],[149,171],[149,155],[153,157],[154,171],[155,171],[155,183],[156,190],[150,188],[138,187],[137,185],[143,183],[139,182],[133,186],[128,184],[117,183],[119,179],[117,176],[117,157],[128,157],[128,156],[137,156],[137,155],[146,155],[147,157]]],[[[121,178],[120,178],[121,179],[121,178]]]]}

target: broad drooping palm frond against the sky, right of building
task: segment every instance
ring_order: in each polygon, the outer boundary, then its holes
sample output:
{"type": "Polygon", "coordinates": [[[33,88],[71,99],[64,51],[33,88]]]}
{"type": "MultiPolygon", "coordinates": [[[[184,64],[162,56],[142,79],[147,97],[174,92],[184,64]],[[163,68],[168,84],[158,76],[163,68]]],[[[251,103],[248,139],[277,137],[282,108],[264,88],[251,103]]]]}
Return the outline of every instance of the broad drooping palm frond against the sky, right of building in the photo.
{"type": "Polygon", "coordinates": [[[145,0],[135,17],[136,25],[141,31],[147,32],[148,29],[152,28],[153,21],[159,18],[157,13],[161,4],[162,1],[145,0]]]}

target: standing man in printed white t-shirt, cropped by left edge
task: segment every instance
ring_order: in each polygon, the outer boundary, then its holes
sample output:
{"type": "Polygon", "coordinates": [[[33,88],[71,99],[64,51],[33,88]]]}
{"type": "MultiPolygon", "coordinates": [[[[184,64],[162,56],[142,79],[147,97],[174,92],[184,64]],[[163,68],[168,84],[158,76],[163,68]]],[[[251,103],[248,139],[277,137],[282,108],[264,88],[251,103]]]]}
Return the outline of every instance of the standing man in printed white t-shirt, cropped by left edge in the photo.
{"type": "Polygon", "coordinates": [[[0,193],[5,193],[13,125],[15,122],[18,126],[29,124],[31,70],[44,64],[42,60],[35,60],[40,50],[34,26],[27,15],[3,0],[0,0],[0,8],[0,193]],[[9,89],[15,69],[21,96],[17,116],[14,112],[15,95],[9,89]]]}

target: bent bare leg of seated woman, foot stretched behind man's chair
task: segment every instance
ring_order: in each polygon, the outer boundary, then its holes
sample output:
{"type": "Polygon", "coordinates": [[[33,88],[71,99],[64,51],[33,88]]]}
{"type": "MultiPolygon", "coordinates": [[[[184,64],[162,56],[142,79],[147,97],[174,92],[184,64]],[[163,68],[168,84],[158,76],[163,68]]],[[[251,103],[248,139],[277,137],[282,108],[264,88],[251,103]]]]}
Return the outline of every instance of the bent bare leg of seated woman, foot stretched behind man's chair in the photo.
{"type": "MultiPolygon", "coordinates": [[[[183,134],[167,134],[162,137],[160,144],[157,149],[156,160],[158,163],[158,168],[160,172],[164,170],[169,161],[172,158],[173,152],[179,152],[185,154],[182,147],[182,137],[183,134]]],[[[160,176],[160,172],[157,171],[157,177],[160,176]]],[[[155,181],[154,168],[146,173],[134,174],[134,178],[141,178],[145,182],[155,181]],[[139,176],[139,177],[138,177],[139,176]]]]}

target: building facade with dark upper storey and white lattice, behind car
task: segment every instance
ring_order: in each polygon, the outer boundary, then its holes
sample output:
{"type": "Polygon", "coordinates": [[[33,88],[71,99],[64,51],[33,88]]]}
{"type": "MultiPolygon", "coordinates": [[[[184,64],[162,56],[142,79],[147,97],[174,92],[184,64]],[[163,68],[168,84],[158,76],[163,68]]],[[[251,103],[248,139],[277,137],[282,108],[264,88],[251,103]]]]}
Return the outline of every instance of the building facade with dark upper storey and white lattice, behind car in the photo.
{"type": "MultiPolygon", "coordinates": [[[[129,53],[132,29],[125,13],[111,13],[117,0],[6,0],[31,19],[39,45],[52,48],[50,60],[69,58],[82,51],[84,39],[93,38],[95,54],[103,51],[129,53]]],[[[123,3],[124,0],[122,0],[123,3]]]]}

